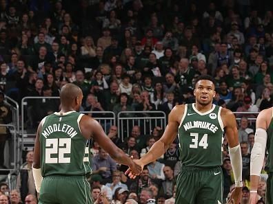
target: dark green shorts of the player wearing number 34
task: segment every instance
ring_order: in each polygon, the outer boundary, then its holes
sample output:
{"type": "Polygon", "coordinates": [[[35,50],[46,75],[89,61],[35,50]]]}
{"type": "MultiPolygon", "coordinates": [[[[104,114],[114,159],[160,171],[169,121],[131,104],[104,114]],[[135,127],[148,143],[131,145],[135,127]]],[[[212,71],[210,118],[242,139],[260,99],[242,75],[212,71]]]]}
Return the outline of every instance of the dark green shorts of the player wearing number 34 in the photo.
{"type": "Polygon", "coordinates": [[[175,203],[222,204],[223,173],[221,167],[182,167],[176,182],[175,203]]]}

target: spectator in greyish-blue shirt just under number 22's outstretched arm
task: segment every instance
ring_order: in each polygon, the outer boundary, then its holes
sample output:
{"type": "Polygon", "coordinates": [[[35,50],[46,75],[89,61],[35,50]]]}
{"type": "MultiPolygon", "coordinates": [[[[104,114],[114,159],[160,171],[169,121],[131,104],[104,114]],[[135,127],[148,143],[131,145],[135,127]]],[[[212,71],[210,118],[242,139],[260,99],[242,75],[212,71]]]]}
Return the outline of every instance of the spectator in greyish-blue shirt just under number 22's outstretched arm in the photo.
{"type": "Polygon", "coordinates": [[[99,148],[99,155],[92,158],[93,174],[101,174],[102,183],[111,181],[112,172],[117,170],[117,163],[108,155],[105,150],[99,148]]]}

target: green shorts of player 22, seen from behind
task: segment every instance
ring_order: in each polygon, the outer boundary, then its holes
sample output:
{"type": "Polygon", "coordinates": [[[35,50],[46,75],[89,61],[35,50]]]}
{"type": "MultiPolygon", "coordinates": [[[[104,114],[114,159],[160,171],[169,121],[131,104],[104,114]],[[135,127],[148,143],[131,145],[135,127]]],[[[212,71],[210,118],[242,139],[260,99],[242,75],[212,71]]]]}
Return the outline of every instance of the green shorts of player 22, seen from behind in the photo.
{"type": "Polygon", "coordinates": [[[92,204],[85,176],[48,176],[41,183],[39,204],[92,204]]]}

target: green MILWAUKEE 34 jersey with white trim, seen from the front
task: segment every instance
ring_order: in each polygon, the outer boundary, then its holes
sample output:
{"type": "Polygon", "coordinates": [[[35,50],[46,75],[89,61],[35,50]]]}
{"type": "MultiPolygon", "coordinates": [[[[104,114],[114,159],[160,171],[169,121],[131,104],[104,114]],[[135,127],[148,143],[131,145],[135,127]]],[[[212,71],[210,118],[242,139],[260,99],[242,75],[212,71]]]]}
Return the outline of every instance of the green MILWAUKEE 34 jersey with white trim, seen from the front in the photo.
{"type": "Polygon", "coordinates": [[[220,113],[220,106],[213,105],[210,111],[201,113],[195,104],[185,104],[178,129],[183,166],[221,166],[223,122],[220,113]]]}

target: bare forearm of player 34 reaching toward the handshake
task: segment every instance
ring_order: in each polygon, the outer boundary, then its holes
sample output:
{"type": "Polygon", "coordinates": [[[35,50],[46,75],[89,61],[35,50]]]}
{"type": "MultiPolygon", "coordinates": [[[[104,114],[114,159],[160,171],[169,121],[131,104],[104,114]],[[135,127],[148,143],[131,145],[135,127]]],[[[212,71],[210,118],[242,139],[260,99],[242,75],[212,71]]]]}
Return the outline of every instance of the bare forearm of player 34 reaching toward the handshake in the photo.
{"type": "Polygon", "coordinates": [[[141,162],[145,166],[148,163],[151,163],[152,161],[159,159],[159,157],[161,157],[166,150],[168,150],[168,146],[165,145],[163,141],[159,139],[159,141],[156,141],[156,143],[154,143],[149,152],[145,154],[143,157],[141,157],[141,162]]]}

